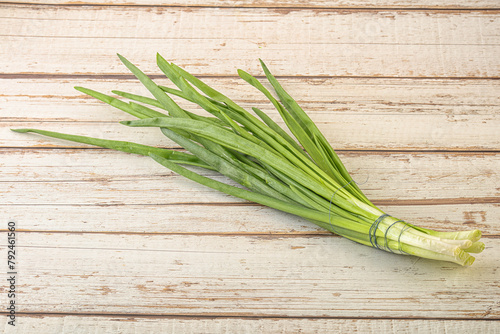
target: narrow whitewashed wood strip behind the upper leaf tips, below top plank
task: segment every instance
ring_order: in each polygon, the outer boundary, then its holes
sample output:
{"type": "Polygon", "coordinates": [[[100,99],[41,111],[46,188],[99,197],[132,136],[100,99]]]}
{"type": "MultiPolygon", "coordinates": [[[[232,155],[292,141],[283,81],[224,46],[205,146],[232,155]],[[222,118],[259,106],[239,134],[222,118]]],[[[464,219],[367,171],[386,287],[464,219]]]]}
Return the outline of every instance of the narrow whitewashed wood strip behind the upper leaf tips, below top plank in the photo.
{"type": "MultiPolygon", "coordinates": [[[[234,73],[236,75],[236,72],[234,73]]],[[[261,75],[261,71],[252,73],[261,75]]],[[[173,84],[155,72],[155,82],[173,84]]],[[[259,79],[269,87],[267,80],[259,79]]],[[[224,93],[236,103],[251,109],[257,106],[270,111],[270,102],[240,78],[202,77],[209,86],[224,93]]],[[[500,81],[491,79],[400,79],[400,78],[308,78],[281,77],[278,80],[313,118],[321,114],[331,117],[359,115],[465,115],[494,117],[500,108],[500,81]],[[334,114],[335,112],[335,114],[334,114]],[[339,116],[337,116],[339,115],[339,116]]],[[[91,88],[110,94],[122,90],[151,96],[137,79],[118,78],[0,78],[0,112],[3,121],[108,121],[125,114],[76,91],[74,86],[91,88]]],[[[270,87],[269,87],[270,88],[270,87]]],[[[115,96],[116,97],[116,96],[115,96]]],[[[176,99],[183,107],[193,104],[176,99]]],[[[324,117],[327,118],[327,117],[324,117]]],[[[485,119],[491,121],[491,119],[485,119]]],[[[326,120],[328,121],[328,120],[326,120]]],[[[338,120],[336,120],[338,121],[338,120]]]]}

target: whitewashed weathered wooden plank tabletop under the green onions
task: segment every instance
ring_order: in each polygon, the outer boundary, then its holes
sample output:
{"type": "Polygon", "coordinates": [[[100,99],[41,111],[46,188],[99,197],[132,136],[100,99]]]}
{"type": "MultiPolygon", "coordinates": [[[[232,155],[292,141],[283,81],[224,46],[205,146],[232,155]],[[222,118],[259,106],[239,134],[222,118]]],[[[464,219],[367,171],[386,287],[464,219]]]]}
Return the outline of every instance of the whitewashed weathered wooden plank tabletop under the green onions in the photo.
{"type": "Polygon", "coordinates": [[[0,17],[5,333],[500,332],[497,0],[33,0],[0,17]],[[175,147],[73,89],[144,93],[117,52],[167,84],[159,52],[278,120],[236,75],[264,59],[377,205],[479,228],[486,250],[467,268],[393,255],[146,157],[9,131],[175,147]]]}

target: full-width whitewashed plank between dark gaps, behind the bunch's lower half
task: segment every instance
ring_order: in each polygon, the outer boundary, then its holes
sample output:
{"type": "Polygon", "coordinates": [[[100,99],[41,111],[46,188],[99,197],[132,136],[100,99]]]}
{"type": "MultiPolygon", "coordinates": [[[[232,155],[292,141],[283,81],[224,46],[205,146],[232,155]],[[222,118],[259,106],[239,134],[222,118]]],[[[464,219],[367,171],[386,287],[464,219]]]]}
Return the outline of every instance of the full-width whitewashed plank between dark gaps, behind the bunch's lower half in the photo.
{"type": "MultiPolygon", "coordinates": [[[[0,212],[27,230],[318,233],[301,219],[283,220],[282,213],[196,185],[144,157],[104,150],[0,154],[0,212]]],[[[500,164],[496,154],[340,157],[355,179],[364,179],[360,187],[367,196],[395,216],[430,228],[500,234],[500,189],[490,186],[500,182],[492,170],[500,164]]]]}

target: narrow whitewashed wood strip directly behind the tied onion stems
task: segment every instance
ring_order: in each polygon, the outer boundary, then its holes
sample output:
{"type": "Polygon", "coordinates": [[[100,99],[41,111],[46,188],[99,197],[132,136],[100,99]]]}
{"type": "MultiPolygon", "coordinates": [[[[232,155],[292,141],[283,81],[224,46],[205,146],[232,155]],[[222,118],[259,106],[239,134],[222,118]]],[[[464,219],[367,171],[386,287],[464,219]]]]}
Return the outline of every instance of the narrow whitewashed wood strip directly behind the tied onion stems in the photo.
{"type": "MultiPolygon", "coordinates": [[[[68,194],[68,196],[70,196],[68,194]]],[[[500,235],[499,204],[379,205],[407,222],[441,231],[500,235]]],[[[257,205],[0,205],[26,231],[217,235],[328,235],[302,218],[257,205]]]]}

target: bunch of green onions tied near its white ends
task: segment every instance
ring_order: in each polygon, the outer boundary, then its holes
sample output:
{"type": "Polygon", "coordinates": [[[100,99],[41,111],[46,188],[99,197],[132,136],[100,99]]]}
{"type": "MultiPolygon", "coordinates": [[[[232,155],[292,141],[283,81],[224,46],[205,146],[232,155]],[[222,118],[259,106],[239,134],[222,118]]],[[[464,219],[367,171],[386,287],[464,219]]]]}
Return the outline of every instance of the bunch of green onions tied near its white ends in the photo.
{"type": "Polygon", "coordinates": [[[137,118],[121,124],[159,128],[186,152],[38,129],[13,131],[149,156],[195,182],[303,217],[332,233],[388,252],[471,265],[474,257],[470,254],[484,249],[479,230],[438,232],[377,208],[353,181],[317,126],[262,61],[277,98],[247,72],[239,70],[238,74],[269,99],[289,132],[262,110],[252,108],[250,113],[159,54],[157,65],[176,88],[157,85],[118,56],[153,97],[113,91],[120,99],[75,88],[137,118]],[[172,97],[198,105],[208,116],[181,108],[172,97]],[[199,169],[186,166],[217,171],[241,187],[208,178],[198,173],[199,169]]]}

